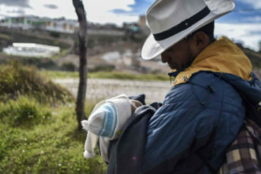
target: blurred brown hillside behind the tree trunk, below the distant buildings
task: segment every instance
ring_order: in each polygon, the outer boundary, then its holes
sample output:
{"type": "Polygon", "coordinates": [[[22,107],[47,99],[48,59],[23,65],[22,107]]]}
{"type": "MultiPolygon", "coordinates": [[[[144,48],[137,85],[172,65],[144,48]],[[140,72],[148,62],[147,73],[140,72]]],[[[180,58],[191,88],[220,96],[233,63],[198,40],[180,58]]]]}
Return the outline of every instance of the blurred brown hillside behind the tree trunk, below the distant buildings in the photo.
{"type": "MultiPolygon", "coordinates": [[[[10,60],[18,60],[23,64],[37,66],[37,68],[47,70],[68,70],[78,71],[78,37],[77,35],[59,35],[54,37],[49,32],[40,31],[18,31],[6,30],[0,27],[0,49],[11,45],[13,42],[35,42],[39,44],[49,44],[61,47],[61,54],[51,58],[27,58],[8,56],[0,52],[0,63],[10,60]]],[[[93,71],[126,71],[130,73],[164,73],[169,71],[167,66],[160,66],[159,59],[152,61],[142,61],[140,49],[145,41],[145,35],[138,37],[123,35],[88,35],[88,69],[93,71]],[[105,54],[113,53],[111,61],[104,60],[105,54]],[[118,56],[117,56],[118,55],[118,56]],[[127,56],[126,56],[127,55],[127,56]],[[135,56],[134,56],[135,55],[135,56]]],[[[253,63],[253,70],[261,76],[261,52],[256,52],[244,48],[242,44],[238,46],[245,52],[253,63]]],[[[1,50],[0,50],[1,51],[1,50]]]]}

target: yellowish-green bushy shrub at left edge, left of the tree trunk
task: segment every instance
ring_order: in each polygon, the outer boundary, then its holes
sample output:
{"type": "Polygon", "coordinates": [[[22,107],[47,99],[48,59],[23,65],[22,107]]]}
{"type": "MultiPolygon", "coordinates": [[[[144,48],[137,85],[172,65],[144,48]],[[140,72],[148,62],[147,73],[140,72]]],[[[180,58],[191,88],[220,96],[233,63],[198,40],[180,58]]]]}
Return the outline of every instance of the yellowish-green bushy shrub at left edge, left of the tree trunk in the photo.
{"type": "Polygon", "coordinates": [[[32,66],[18,62],[0,67],[0,99],[17,99],[19,95],[32,96],[40,102],[73,101],[68,90],[44,78],[32,66]]]}

